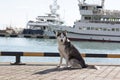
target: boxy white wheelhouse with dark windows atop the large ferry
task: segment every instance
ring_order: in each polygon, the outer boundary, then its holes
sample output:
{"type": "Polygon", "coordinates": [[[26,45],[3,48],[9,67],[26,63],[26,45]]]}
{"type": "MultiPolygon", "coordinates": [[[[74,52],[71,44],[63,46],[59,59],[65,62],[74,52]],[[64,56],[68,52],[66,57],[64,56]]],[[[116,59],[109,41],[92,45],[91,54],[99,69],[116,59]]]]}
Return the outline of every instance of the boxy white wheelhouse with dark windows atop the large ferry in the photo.
{"type": "Polygon", "coordinates": [[[96,4],[79,4],[81,21],[100,20],[103,15],[103,7],[96,4]]]}

